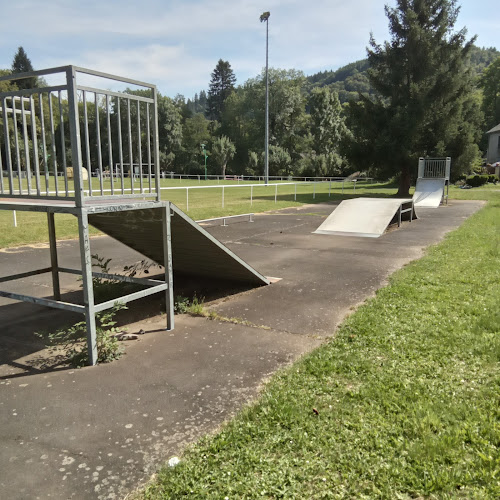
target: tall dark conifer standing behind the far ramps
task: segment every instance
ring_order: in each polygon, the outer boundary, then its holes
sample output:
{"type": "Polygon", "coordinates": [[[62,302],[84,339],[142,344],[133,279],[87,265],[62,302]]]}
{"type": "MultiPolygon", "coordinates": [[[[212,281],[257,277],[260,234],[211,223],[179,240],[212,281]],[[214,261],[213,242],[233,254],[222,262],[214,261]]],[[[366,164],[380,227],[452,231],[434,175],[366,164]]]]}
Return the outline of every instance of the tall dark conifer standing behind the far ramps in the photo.
{"type": "Polygon", "coordinates": [[[379,97],[350,104],[356,136],[350,156],[380,175],[399,173],[398,196],[407,197],[418,157],[448,155],[465,108],[479,113],[468,66],[474,38],[466,40],[465,28],[453,31],[455,0],[397,0],[385,11],[391,40],[378,45],[371,37],[368,49],[369,79],[379,97]]]}

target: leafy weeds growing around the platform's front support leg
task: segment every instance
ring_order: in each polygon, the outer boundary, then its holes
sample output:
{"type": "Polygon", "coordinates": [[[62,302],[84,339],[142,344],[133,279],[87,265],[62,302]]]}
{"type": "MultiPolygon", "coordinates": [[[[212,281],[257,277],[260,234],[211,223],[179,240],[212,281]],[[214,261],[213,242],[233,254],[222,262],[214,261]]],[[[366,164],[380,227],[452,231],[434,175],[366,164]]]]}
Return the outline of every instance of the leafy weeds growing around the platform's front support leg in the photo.
{"type": "MultiPolygon", "coordinates": [[[[96,314],[96,343],[97,362],[109,363],[122,355],[116,335],[123,329],[116,327],[114,317],[122,309],[127,309],[125,304],[116,303],[112,309],[96,314]]],[[[85,321],[75,323],[73,326],[57,330],[54,333],[36,332],[36,336],[48,342],[47,347],[51,352],[63,354],[65,360],[75,367],[88,364],[87,353],[87,324],[85,321]]]]}

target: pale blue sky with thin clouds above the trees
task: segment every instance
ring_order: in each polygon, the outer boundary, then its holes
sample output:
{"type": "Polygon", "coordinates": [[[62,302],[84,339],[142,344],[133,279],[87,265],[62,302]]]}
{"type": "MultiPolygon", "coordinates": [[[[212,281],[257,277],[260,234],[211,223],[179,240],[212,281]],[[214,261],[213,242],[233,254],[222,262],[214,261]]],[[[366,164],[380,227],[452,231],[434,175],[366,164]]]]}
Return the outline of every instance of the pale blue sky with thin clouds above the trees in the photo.
{"type": "MultiPolygon", "coordinates": [[[[455,29],[500,50],[498,0],[462,0],[455,29]]],[[[208,89],[217,61],[237,84],[269,65],[306,75],[366,57],[389,38],[395,0],[0,0],[0,68],[22,46],[35,69],[73,64],[155,84],[163,95],[208,89]]]]}

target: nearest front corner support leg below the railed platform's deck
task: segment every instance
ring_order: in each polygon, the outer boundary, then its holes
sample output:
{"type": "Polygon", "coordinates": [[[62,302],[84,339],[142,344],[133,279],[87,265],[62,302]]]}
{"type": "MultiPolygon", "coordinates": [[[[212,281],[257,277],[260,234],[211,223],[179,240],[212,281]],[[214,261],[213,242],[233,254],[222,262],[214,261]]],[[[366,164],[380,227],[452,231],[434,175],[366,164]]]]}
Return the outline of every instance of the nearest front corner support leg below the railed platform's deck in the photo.
{"type": "Polygon", "coordinates": [[[78,235],[80,243],[80,259],[82,263],[83,305],[87,323],[87,350],[89,364],[97,363],[97,341],[94,311],[94,285],[92,282],[92,256],[90,253],[89,222],[87,212],[78,214],[78,235]]]}

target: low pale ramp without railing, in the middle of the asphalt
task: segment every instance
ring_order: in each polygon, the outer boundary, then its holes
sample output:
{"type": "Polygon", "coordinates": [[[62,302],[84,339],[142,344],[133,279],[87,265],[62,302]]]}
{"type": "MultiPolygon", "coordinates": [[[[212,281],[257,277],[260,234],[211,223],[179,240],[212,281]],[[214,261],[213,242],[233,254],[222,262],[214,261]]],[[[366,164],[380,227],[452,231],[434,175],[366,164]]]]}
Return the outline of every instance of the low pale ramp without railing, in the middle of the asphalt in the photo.
{"type": "Polygon", "coordinates": [[[344,200],[314,233],[378,238],[400,210],[402,213],[410,212],[411,218],[416,219],[411,200],[401,198],[344,200]]]}

